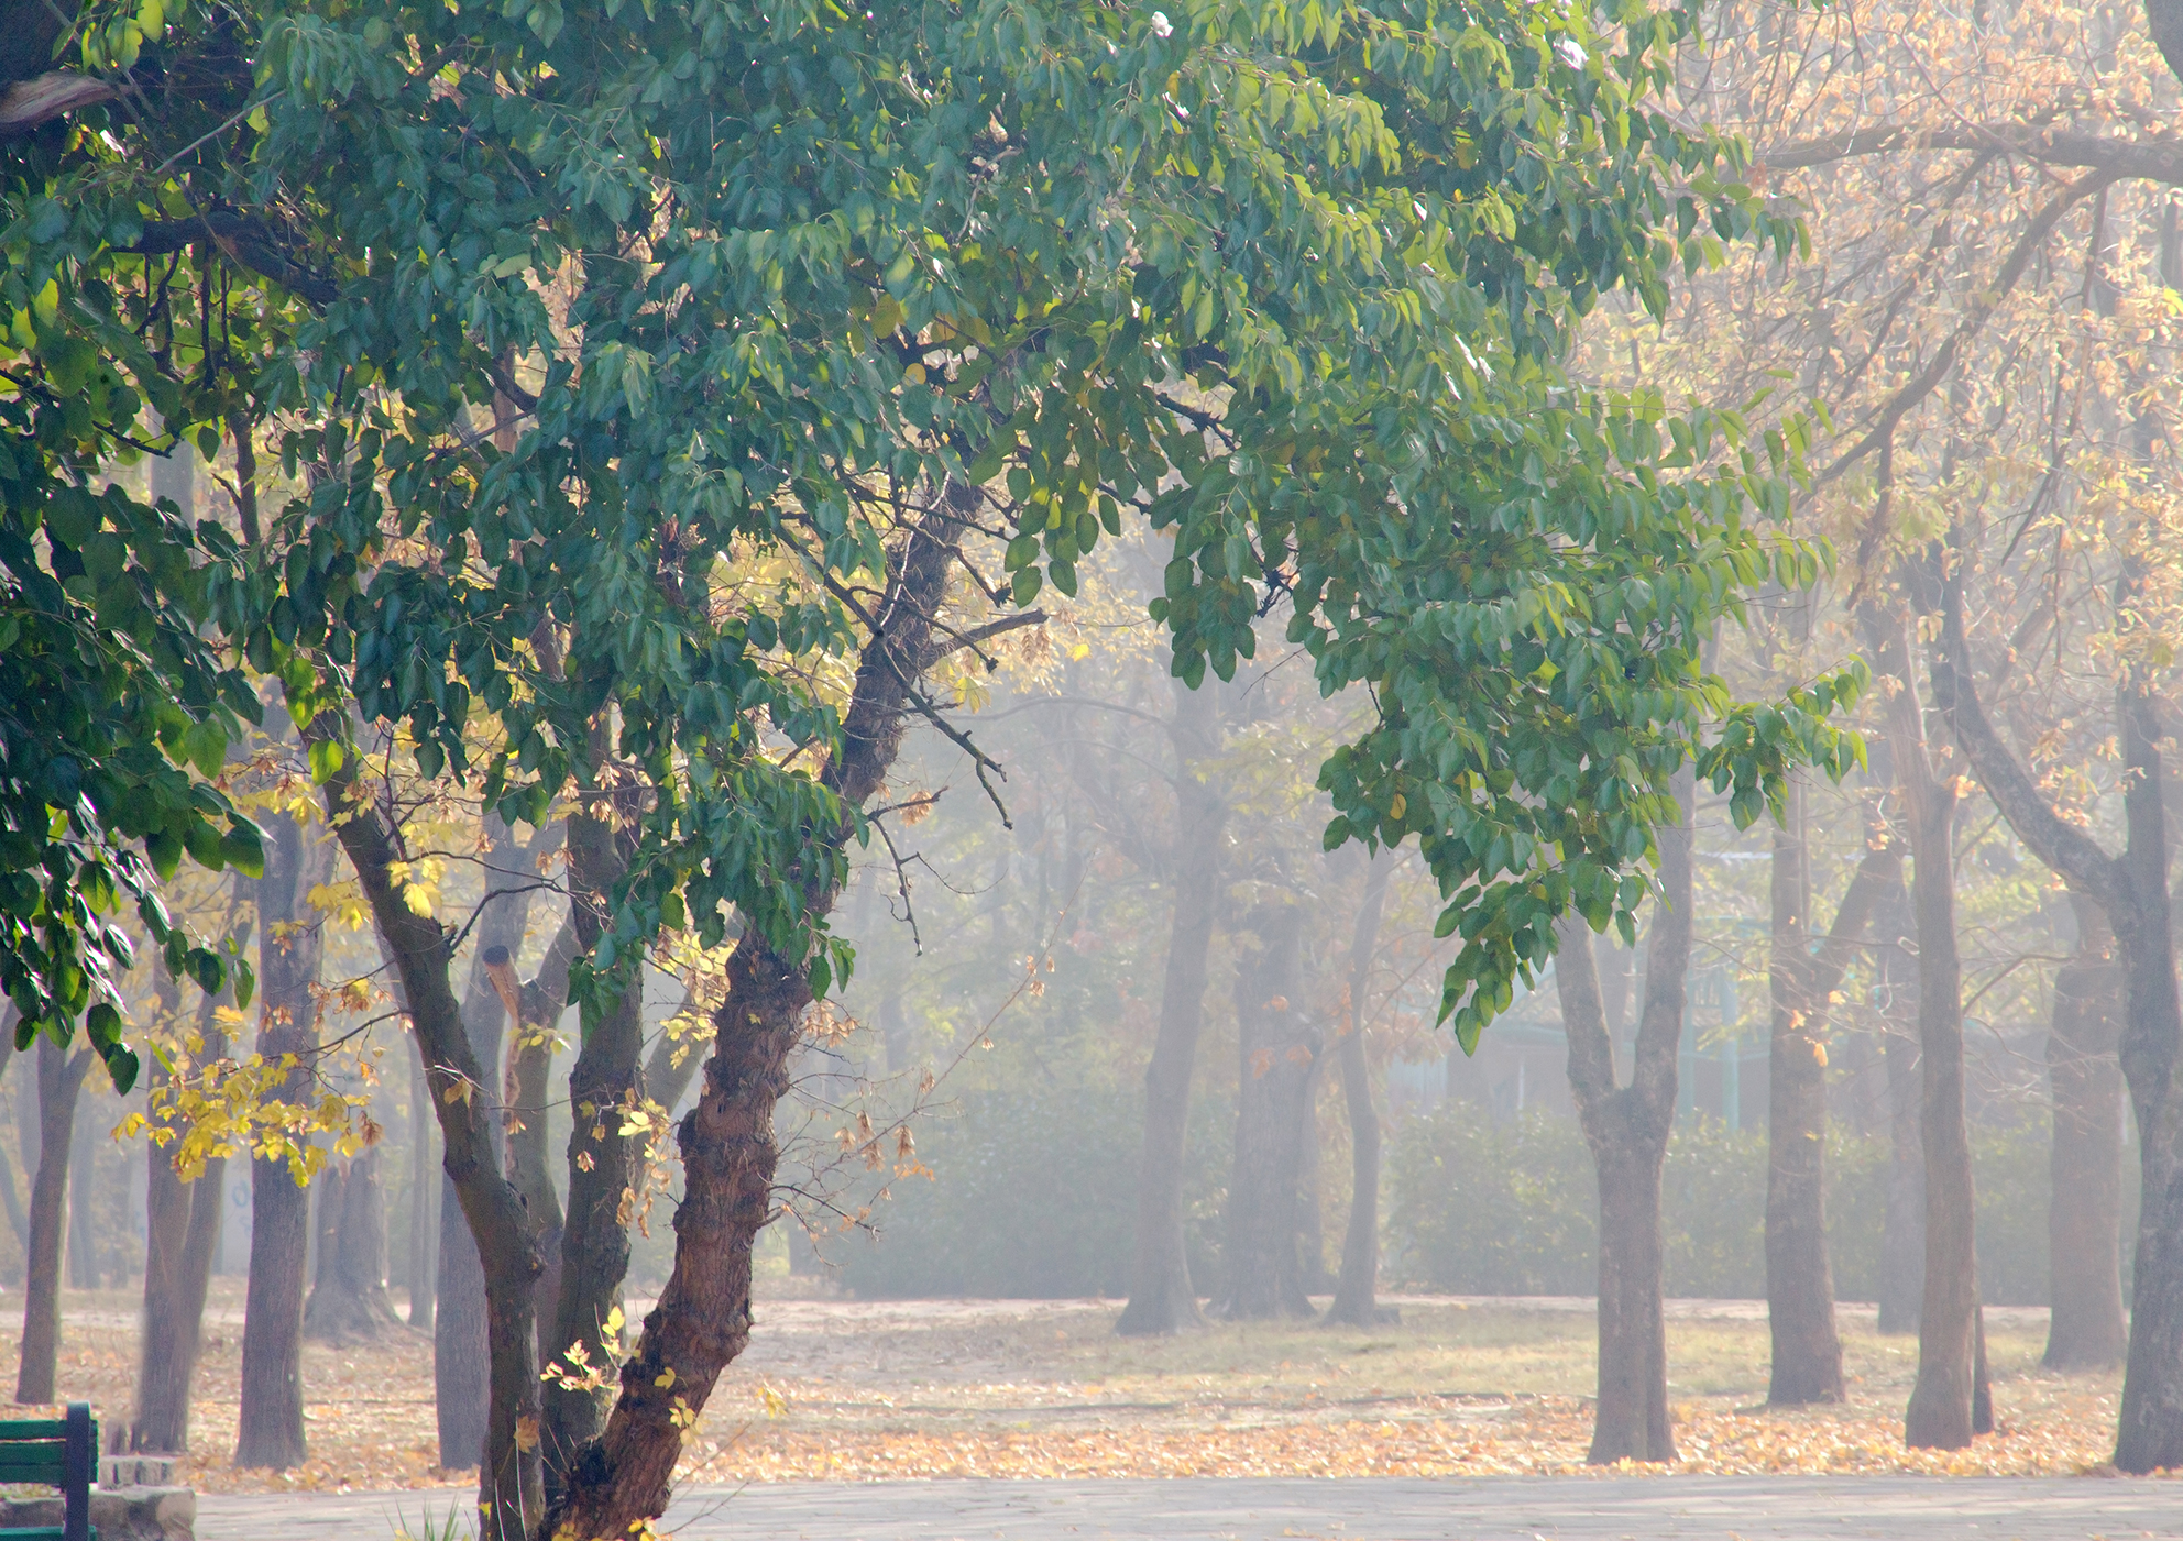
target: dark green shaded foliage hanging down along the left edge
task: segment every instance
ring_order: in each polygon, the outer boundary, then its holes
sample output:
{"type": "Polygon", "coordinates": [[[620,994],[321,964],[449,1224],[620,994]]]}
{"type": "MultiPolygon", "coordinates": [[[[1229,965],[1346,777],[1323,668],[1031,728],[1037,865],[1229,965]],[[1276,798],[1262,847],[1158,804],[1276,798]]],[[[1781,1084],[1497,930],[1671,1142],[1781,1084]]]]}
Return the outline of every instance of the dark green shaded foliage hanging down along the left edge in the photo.
{"type": "MultiPolygon", "coordinates": [[[[114,969],[135,949],[118,919],[135,910],[177,978],[218,993],[240,963],[190,943],[155,893],[183,856],[255,873],[258,832],[212,784],[229,742],[258,718],[234,661],[203,635],[210,578],[231,568],[218,526],[192,528],[172,502],[98,487],[116,456],[164,454],[179,434],[144,439],[138,417],[194,423],[234,373],[210,360],[203,321],[164,306],[148,258],[116,255],[90,229],[116,205],[83,179],[105,148],[63,120],[105,111],[144,37],[146,17],[76,28],[68,11],[9,7],[24,48],[0,65],[0,227],[7,229],[9,334],[0,343],[0,989],[33,1032],[65,1043],[81,1022],[114,1085],[140,1059],[120,1032],[114,969]],[[63,17],[70,17],[63,22],[63,17]],[[65,37],[63,37],[65,33],[65,37]],[[55,46],[105,65],[100,76],[37,74],[55,46]],[[79,201],[79,192],[85,196],[79,201]],[[83,262],[85,251],[100,260],[83,262]],[[109,282],[133,275],[131,284],[109,282]],[[153,292],[159,299],[153,299],[153,292]],[[148,308],[146,308],[148,306],[148,308]],[[164,308],[162,308],[164,306],[164,308]]],[[[157,15],[157,7],[153,7],[157,15]]],[[[168,105],[216,116],[181,81],[168,105]]],[[[133,210],[133,205],[131,205],[133,210]]],[[[124,218],[138,220],[131,212],[124,218]]],[[[129,244],[129,242],[122,242],[129,244]]],[[[166,266],[172,284],[175,262],[166,266]]],[[[238,998],[251,976],[236,971],[238,998]]]]}

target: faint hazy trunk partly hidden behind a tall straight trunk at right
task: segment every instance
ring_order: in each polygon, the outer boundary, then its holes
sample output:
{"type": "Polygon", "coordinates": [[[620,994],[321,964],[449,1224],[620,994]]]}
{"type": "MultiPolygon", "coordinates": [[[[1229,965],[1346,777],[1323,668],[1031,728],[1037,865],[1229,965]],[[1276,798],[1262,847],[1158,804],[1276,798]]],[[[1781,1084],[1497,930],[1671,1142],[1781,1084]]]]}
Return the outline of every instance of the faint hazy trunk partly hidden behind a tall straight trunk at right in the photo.
{"type": "Polygon", "coordinates": [[[1886,1041],[1888,1190],[1880,1231],[1880,1331],[1917,1331],[1925,1297],[1925,1142],[1919,1135],[1917,921],[1895,882],[1875,915],[1875,1004],[1886,1041]]]}

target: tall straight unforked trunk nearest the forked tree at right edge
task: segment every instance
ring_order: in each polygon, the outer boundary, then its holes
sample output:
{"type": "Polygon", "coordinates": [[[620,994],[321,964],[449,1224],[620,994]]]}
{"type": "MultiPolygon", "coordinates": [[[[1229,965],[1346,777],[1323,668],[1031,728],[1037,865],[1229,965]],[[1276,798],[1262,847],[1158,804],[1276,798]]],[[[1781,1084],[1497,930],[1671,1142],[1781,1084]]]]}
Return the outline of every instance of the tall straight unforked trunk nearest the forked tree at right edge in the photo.
{"type": "Polygon", "coordinates": [[[1925,709],[1910,666],[1908,622],[1880,648],[1888,698],[1888,749],[1910,838],[1910,899],[1919,947],[1919,1133],[1925,1152],[1925,1297],[1919,1305],[1917,1386],[1904,1441],[1963,1449],[1976,1432],[1978,1251],[1971,1229],[1971,1137],[1963,1122],[1963,965],[1956,956],[1956,784],[1932,771],[1925,709]]]}

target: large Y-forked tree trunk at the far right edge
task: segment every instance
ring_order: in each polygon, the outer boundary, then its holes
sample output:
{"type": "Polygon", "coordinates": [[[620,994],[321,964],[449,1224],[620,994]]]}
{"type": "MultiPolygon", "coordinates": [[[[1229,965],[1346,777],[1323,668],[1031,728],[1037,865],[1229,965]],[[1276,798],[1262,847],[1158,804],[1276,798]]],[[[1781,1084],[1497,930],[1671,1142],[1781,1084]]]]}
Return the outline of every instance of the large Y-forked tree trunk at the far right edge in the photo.
{"type": "MultiPolygon", "coordinates": [[[[2128,578],[2118,585],[2128,602],[2128,578]]],[[[2183,1054],[2176,1013],[2174,936],[2168,915],[2168,814],[2161,805],[2161,722],[2146,683],[2126,670],[2115,683],[2122,740],[2122,856],[2061,819],[2024,762],[2002,742],[1978,701],[1963,633],[1963,576],[1941,587],[1941,644],[1932,664],[1934,703],[1963,744],[2008,827],[2072,893],[2100,906],[2122,967],[2122,1078],[2137,1113],[2142,1207],[2133,1266],[2131,1342],[2122,1375],[2115,1467],[2157,1471],[2183,1465],[2183,1054]]]]}

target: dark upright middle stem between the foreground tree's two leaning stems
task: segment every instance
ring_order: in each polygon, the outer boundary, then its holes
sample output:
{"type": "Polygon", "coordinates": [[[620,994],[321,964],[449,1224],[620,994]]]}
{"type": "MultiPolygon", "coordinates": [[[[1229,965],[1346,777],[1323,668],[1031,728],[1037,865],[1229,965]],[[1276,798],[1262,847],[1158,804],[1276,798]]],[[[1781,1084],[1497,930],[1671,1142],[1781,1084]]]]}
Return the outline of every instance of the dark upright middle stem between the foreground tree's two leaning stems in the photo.
{"type": "MultiPolygon", "coordinates": [[[[605,766],[611,751],[605,718],[592,733],[592,766],[605,766]]],[[[627,797],[592,790],[568,819],[570,919],[574,945],[589,956],[605,934],[607,895],[629,871],[622,827],[635,808],[627,797]]],[[[561,1229],[561,1277],[554,1288],[552,1351],[557,1358],[583,1345],[592,1364],[613,1364],[622,1334],[607,1331],[629,1273],[629,1196],[637,1185],[642,1150],[624,1135],[622,1109],[644,1098],[640,1059],[644,1054],[642,965],[629,987],[605,1008],[583,1006],[583,1046],[568,1072],[568,1216],[561,1229]]],[[[565,1482],[568,1462],[598,1438],[613,1408],[613,1386],[546,1384],[546,1502],[565,1482]]]]}

